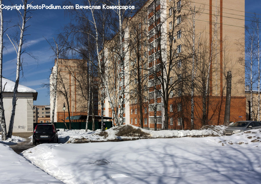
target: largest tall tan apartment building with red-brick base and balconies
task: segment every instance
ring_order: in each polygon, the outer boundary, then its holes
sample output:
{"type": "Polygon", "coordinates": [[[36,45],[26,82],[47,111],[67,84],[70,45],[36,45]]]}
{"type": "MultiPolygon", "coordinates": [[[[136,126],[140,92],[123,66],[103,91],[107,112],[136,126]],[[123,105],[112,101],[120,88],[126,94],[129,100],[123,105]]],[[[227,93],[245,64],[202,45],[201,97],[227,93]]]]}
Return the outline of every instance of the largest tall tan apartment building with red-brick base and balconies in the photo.
{"type": "MultiPolygon", "coordinates": [[[[141,62],[139,71],[143,85],[147,90],[144,90],[144,101],[142,102],[143,126],[147,129],[154,129],[154,90],[153,75],[150,70],[157,70],[160,67],[158,42],[160,38],[162,59],[166,63],[167,75],[168,68],[171,74],[168,81],[177,82],[175,88],[167,95],[168,98],[168,128],[169,129],[191,129],[191,95],[190,82],[184,82],[183,78],[189,75],[192,71],[192,59],[184,59],[189,55],[188,42],[191,42],[192,37],[189,31],[192,29],[192,19],[189,13],[190,8],[194,7],[195,14],[195,34],[197,39],[205,39],[204,42],[197,42],[195,45],[204,46],[206,57],[210,58],[209,65],[209,82],[207,91],[206,103],[206,120],[209,125],[222,125],[224,121],[224,109],[226,101],[226,72],[232,73],[232,92],[231,92],[231,107],[230,121],[246,120],[246,97],[244,87],[244,65],[239,63],[240,57],[244,55],[244,51],[239,51],[236,42],[239,38],[244,38],[244,0],[239,1],[223,1],[223,0],[195,0],[195,3],[188,1],[159,1],[148,0],[142,8],[137,11],[132,17],[125,19],[123,30],[123,45],[126,52],[124,57],[124,124],[132,124],[140,126],[140,113],[138,106],[138,98],[133,97],[133,90],[137,89],[137,62],[141,62]],[[184,6],[183,6],[184,5],[184,6]],[[175,12],[175,15],[173,15],[175,12]],[[241,18],[240,18],[241,17],[241,18]],[[156,21],[155,21],[156,20],[156,21]],[[159,24],[161,23],[161,24],[159,24]],[[158,29],[157,25],[161,28],[158,29]],[[139,30],[139,33],[132,32],[133,28],[139,30]],[[175,29],[173,39],[170,40],[171,29],[175,29]],[[157,32],[158,31],[158,32],[157,32]],[[156,37],[155,32],[160,36],[156,37]],[[137,37],[135,37],[135,34],[137,37]],[[201,36],[201,37],[200,37],[201,36]],[[171,43],[173,42],[173,43],[171,43]],[[132,44],[131,43],[136,43],[132,44]],[[138,44],[139,43],[139,44],[138,44]],[[127,46],[127,45],[130,46],[127,46]],[[229,48],[229,49],[228,49],[229,48]],[[137,56],[137,50],[140,53],[137,56]],[[174,66],[169,65],[171,50],[175,55],[174,66]],[[228,58],[229,55],[229,58],[228,58]],[[214,57],[215,56],[215,57],[214,57]],[[140,57],[141,59],[138,59],[140,57]],[[187,62],[189,60],[189,62],[187,62]],[[186,62],[186,63],[185,63],[186,62]],[[136,66],[136,68],[135,68],[136,66]],[[135,73],[135,75],[133,75],[135,73]],[[179,79],[182,84],[179,84],[179,79]],[[182,86],[182,89],[181,87],[182,86]]],[[[117,37],[117,35],[115,35],[117,37]]],[[[115,39],[116,40],[116,39],[115,39]]],[[[114,46],[114,40],[108,41],[106,44],[105,55],[102,58],[106,59],[108,66],[113,66],[113,62],[117,63],[114,49],[109,49],[114,46]]],[[[201,58],[204,56],[204,50],[201,58]]],[[[174,57],[174,56],[173,56],[174,57]]],[[[208,65],[206,65],[208,66],[208,65]]],[[[115,80],[114,73],[120,72],[119,67],[108,67],[108,84],[110,85],[110,96],[116,102],[114,109],[117,108],[117,95],[119,93],[118,80],[115,80]]],[[[203,65],[198,66],[195,78],[199,79],[203,76],[203,65]]],[[[208,70],[206,70],[208,71],[208,70]]],[[[165,73],[164,73],[165,72],[165,73]]],[[[205,74],[204,74],[205,75],[205,74]]],[[[207,75],[206,75],[207,77],[207,75]]],[[[166,80],[167,81],[167,80],[166,80]]],[[[164,82],[166,82],[164,81],[164,82]]],[[[195,85],[202,86],[202,82],[195,81],[195,85]]],[[[162,95],[161,81],[156,84],[159,89],[157,92],[157,129],[163,129],[164,125],[164,102],[162,95]]],[[[197,87],[194,94],[194,129],[202,126],[202,91],[197,87]]],[[[156,92],[155,92],[156,93],[156,92]]],[[[112,117],[112,111],[108,98],[104,100],[104,116],[112,117]]],[[[99,109],[100,106],[99,106],[99,109]]],[[[99,110],[99,114],[100,114],[99,110]]]]}

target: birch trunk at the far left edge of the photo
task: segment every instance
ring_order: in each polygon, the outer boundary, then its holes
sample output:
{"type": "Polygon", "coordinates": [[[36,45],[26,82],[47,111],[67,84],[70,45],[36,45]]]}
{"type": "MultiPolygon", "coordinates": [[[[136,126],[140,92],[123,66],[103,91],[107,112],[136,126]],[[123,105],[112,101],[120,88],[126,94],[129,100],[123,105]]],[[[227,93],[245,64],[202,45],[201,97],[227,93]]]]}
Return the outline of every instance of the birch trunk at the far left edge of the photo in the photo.
{"type": "MultiPolygon", "coordinates": [[[[0,0],[0,4],[2,4],[2,0],[0,0]]],[[[5,119],[5,111],[3,107],[3,84],[2,84],[2,71],[3,71],[3,9],[0,9],[0,124],[2,129],[2,140],[7,139],[6,133],[6,119],[5,119]]]]}

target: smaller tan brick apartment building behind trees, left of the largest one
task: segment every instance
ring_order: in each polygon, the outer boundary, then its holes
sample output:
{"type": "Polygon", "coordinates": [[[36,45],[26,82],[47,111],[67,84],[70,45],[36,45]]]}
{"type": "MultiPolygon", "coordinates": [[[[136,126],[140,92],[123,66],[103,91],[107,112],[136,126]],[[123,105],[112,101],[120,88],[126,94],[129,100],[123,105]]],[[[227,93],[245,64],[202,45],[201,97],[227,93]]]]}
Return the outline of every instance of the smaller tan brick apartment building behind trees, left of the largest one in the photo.
{"type": "MultiPolygon", "coordinates": [[[[56,71],[58,71],[58,90],[57,90],[57,96],[56,96],[56,105],[55,105],[55,116],[54,116],[54,122],[64,122],[64,119],[69,116],[68,109],[70,111],[70,116],[77,116],[77,115],[87,115],[87,102],[83,98],[83,94],[81,93],[81,88],[84,86],[84,82],[82,83],[82,86],[79,85],[80,82],[80,76],[78,75],[81,73],[79,70],[81,69],[78,66],[87,66],[86,63],[84,63],[84,60],[81,59],[59,59],[58,63],[58,69],[56,68],[56,59],[55,59],[55,65],[52,68],[52,73],[50,75],[50,112],[52,113],[52,104],[53,104],[53,76],[56,71]],[[78,78],[79,77],[79,78],[78,78]],[[68,104],[66,101],[66,97],[68,100],[68,104]],[[63,110],[63,107],[66,107],[66,110],[63,110]]],[[[88,69],[87,69],[88,71],[88,69]]],[[[85,72],[87,81],[87,72],[85,72]]],[[[81,75],[82,76],[82,75],[81,75]]],[[[86,82],[85,81],[85,82],[86,82]]],[[[94,86],[94,114],[98,114],[98,90],[97,90],[97,78],[94,79],[93,86],[94,86]]],[[[86,86],[85,86],[86,87],[86,86]]],[[[84,95],[87,95],[88,93],[88,87],[86,87],[86,90],[84,89],[84,95]]],[[[89,111],[92,112],[91,109],[89,111]]],[[[69,120],[65,120],[65,122],[69,122],[69,120]]]]}

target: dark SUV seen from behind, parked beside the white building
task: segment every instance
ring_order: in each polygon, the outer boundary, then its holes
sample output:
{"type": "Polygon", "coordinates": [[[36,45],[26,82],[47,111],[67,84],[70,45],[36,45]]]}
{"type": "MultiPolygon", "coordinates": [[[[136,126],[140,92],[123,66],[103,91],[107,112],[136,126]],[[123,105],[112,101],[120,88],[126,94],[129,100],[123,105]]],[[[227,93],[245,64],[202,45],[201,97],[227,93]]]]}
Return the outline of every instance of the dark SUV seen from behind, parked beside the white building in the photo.
{"type": "Polygon", "coordinates": [[[37,142],[54,142],[58,143],[59,129],[56,130],[55,126],[47,123],[37,124],[33,133],[32,142],[35,145],[37,142]]]}

